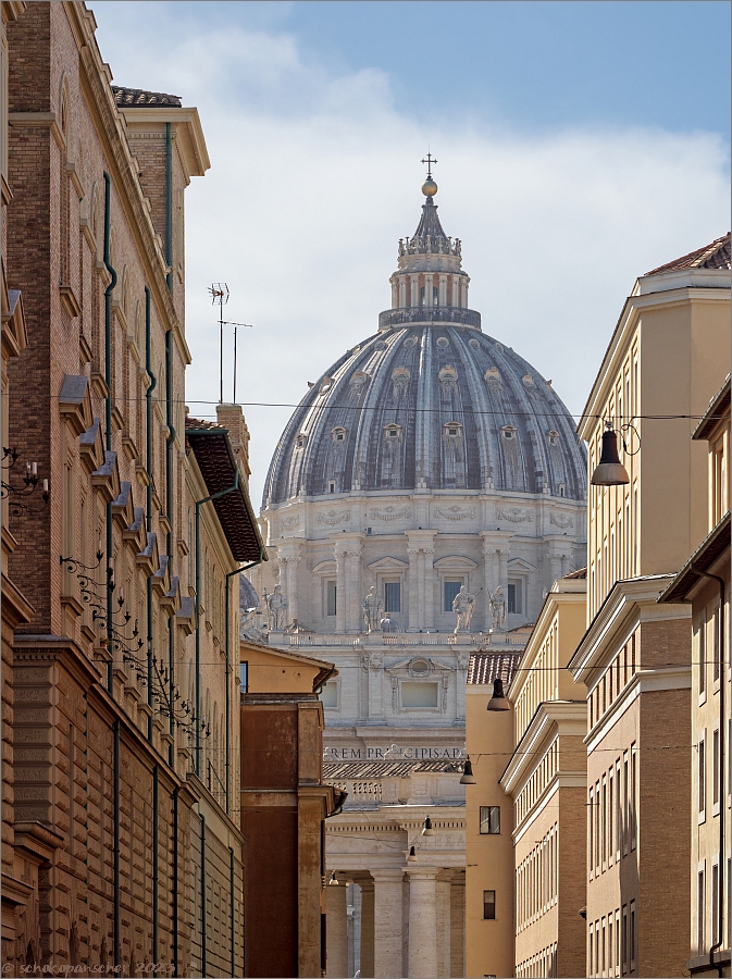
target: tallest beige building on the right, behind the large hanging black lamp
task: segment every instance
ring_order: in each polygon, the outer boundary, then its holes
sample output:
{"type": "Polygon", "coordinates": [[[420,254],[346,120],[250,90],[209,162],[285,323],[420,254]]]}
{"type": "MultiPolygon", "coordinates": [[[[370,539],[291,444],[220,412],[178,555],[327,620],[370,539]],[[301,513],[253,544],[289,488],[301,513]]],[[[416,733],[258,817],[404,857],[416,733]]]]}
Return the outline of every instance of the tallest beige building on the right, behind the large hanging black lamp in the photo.
{"type": "Polygon", "coordinates": [[[690,435],[729,371],[729,235],[638,278],[579,427],[591,472],[604,420],[622,433],[630,476],[591,490],[570,662],[587,686],[590,976],[682,975],[688,958],[691,609],[656,599],[708,531],[690,435]]]}

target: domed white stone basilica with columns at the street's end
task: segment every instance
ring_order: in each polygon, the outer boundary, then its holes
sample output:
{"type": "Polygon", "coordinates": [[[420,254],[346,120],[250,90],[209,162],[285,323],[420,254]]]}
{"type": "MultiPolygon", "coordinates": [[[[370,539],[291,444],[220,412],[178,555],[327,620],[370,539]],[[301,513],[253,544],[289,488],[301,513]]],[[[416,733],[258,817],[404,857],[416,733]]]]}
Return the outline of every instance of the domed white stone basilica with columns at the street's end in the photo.
{"type": "Polygon", "coordinates": [[[245,632],[339,671],[321,694],[325,773],[349,793],[327,828],[328,975],[463,975],[471,654],[519,652],[553,582],[585,563],[572,418],[483,333],[430,175],[422,190],[392,308],[277,445],[270,561],[241,592],[261,609],[245,632]]]}

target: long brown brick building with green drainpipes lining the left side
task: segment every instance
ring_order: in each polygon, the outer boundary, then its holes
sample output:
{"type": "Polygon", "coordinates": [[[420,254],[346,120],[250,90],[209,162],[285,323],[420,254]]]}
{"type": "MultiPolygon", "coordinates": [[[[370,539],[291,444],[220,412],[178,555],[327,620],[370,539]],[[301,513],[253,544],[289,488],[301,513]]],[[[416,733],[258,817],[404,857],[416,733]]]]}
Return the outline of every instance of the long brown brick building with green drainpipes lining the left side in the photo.
{"type": "Polygon", "coordinates": [[[243,420],[186,431],[206,144],[112,86],[84,3],[2,13],[3,964],[233,975],[231,581],[264,555],[243,420]]]}

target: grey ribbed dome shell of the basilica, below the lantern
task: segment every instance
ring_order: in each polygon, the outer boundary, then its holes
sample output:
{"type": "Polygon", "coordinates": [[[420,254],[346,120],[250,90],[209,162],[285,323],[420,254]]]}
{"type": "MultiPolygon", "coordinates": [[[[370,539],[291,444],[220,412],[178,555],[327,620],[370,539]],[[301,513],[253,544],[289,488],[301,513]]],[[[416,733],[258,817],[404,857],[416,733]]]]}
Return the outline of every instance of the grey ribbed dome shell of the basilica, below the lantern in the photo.
{"type": "Polygon", "coordinates": [[[448,319],[472,310],[413,312],[421,322],[388,323],[308,392],[272,459],[264,505],[420,488],[584,499],[584,449],[550,383],[480,326],[448,319]]]}

